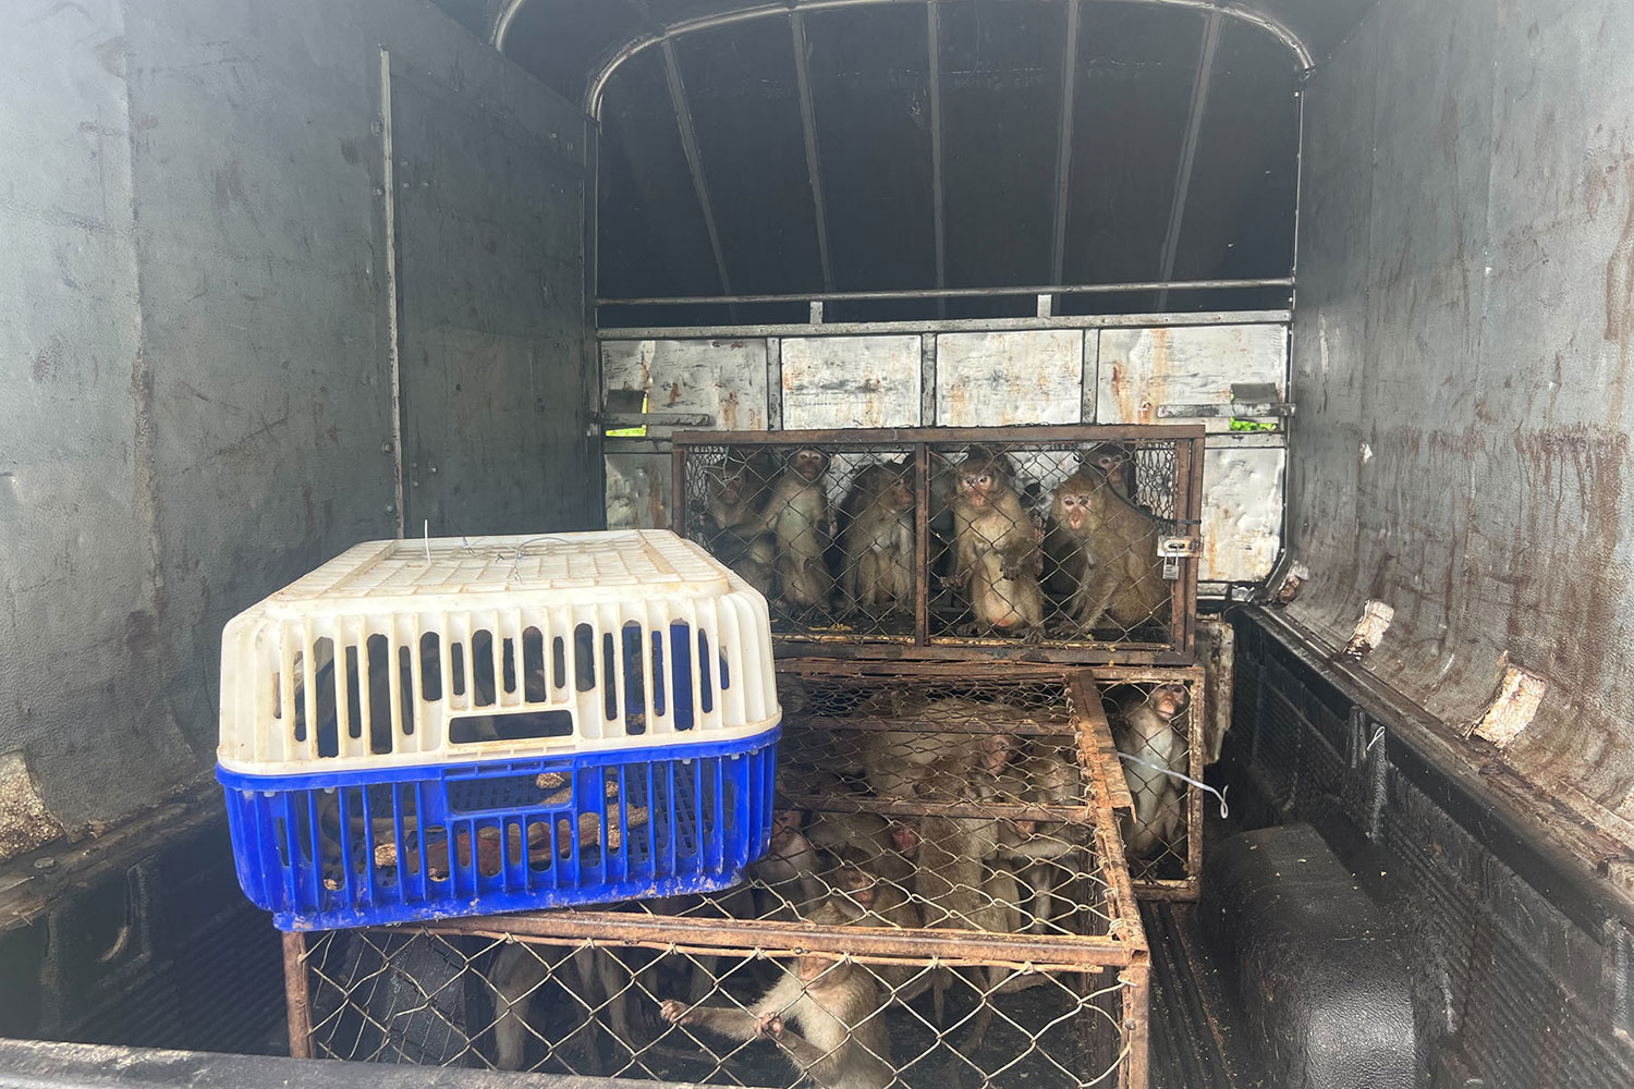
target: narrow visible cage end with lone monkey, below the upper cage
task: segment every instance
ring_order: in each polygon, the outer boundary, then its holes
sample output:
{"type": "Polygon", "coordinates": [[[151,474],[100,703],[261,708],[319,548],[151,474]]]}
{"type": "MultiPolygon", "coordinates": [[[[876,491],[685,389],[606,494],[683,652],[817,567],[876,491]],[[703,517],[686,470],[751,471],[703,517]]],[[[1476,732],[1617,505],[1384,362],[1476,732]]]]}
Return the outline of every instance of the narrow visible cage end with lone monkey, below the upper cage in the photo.
{"type": "Polygon", "coordinates": [[[1198,895],[1204,792],[1194,782],[1203,779],[1204,696],[1201,666],[1096,666],[1074,678],[1075,707],[1105,718],[1106,730],[1093,736],[1111,736],[1123,764],[1113,805],[1142,900],[1198,895]]]}

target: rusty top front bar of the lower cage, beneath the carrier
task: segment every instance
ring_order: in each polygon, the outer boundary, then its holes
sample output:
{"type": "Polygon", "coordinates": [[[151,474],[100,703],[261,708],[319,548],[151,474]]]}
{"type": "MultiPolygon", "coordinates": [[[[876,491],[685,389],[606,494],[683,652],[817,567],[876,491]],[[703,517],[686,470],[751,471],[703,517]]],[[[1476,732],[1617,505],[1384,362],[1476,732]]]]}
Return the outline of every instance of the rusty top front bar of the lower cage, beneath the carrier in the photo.
{"type": "MultiPolygon", "coordinates": [[[[771,919],[696,919],[649,916],[627,911],[541,911],[493,918],[446,919],[420,926],[426,934],[485,934],[518,939],[593,939],[667,950],[691,947],[711,953],[743,950],[804,952],[917,960],[967,960],[984,965],[1033,965],[1070,971],[1085,967],[1121,968],[1136,945],[1123,936],[1078,934],[980,934],[975,931],[897,931],[861,926],[812,926],[771,919]]],[[[1144,944],[1141,945],[1144,952],[1144,944]]]]}

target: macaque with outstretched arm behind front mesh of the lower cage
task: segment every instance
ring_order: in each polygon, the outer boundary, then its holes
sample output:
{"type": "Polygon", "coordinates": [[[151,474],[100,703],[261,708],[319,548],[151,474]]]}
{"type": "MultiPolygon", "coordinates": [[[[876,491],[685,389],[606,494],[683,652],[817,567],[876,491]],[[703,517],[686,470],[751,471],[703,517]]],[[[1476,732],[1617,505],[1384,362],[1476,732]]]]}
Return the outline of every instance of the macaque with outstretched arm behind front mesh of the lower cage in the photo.
{"type": "MultiPolygon", "coordinates": [[[[850,919],[824,903],[807,922],[845,926],[850,919]]],[[[863,965],[804,955],[747,1009],[663,999],[659,1012],[673,1025],[729,1040],[771,1040],[825,1089],[886,1089],[895,1081],[879,986],[863,965]]]]}

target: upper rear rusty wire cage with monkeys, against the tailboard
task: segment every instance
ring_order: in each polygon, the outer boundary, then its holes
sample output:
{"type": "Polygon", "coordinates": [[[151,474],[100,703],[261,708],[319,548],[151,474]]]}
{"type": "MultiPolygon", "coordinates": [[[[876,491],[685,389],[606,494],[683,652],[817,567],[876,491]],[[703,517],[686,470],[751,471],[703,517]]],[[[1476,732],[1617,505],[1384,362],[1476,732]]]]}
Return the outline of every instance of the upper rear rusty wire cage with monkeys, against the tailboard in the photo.
{"type": "Polygon", "coordinates": [[[675,526],[766,594],[781,655],[1188,665],[1201,446],[1194,426],[676,431],[675,526]],[[977,485],[980,509],[954,503],[977,485]]]}

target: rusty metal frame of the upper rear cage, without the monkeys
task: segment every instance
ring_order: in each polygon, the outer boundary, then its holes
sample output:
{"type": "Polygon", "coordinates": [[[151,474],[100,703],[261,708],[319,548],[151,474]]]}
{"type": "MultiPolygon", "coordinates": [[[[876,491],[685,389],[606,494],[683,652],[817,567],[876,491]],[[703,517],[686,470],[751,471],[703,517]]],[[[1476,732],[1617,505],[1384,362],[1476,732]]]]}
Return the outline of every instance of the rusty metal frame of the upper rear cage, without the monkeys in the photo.
{"type": "Polygon", "coordinates": [[[683,537],[698,521],[688,488],[688,467],[698,447],[799,447],[830,446],[907,451],[913,460],[913,633],[902,640],[868,633],[825,635],[814,632],[773,632],[778,658],[871,658],[886,661],[1015,661],[1060,665],[1190,666],[1196,661],[1198,617],[1196,555],[1180,557],[1178,578],[1170,596],[1167,642],[1103,642],[1093,638],[1051,640],[1029,645],[1015,638],[987,638],[935,633],[930,620],[931,534],[930,503],[931,447],[958,444],[1080,444],[1121,441],[1173,442],[1173,516],[1159,521],[1196,527],[1203,518],[1203,424],[1047,424],[1020,428],[832,428],[796,431],[675,431],[672,436],[672,524],[683,537]]]}

